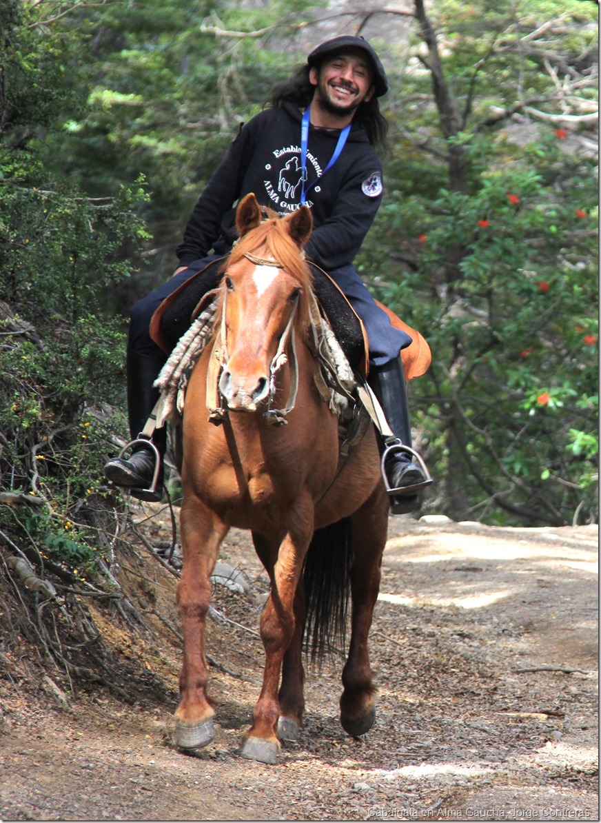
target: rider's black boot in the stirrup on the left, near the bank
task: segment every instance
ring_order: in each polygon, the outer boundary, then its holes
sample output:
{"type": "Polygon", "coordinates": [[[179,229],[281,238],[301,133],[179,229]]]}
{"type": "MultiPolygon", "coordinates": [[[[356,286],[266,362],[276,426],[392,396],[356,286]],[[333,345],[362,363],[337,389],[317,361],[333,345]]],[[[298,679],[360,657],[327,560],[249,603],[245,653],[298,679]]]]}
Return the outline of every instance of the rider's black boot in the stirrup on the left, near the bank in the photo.
{"type": "MultiPolygon", "coordinates": [[[[128,419],[129,434],[132,439],[147,439],[142,437],[142,429],[146,425],[148,416],[159,399],[159,391],[152,385],[159,375],[165,356],[139,355],[128,348],[128,419]]],[[[135,443],[132,453],[125,458],[113,458],[105,463],[105,476],[115,486],[127,489],[138,500],[158,502],[163,491],[163,456],[167,446],[167,432],[165,426],[156,429],[151,438],[152,444],[160,455],[159,472],[155,478],[156,451],[152,446],[144,443],[135,443]]]]}

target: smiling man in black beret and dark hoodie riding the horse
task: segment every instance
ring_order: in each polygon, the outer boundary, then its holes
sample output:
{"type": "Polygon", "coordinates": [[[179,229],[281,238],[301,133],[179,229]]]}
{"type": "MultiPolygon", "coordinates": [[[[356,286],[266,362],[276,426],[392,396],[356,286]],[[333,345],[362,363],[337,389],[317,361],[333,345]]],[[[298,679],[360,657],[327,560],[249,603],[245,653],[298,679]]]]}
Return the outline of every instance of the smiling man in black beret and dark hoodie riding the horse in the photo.
{"type": "MultiPolygon", "coordinates": [[[[131,311],[127,373],[133,438],[155,406],[153,383],[165,364],[165,353],[149,334],[151,317],[184,281],[230,252],[236,239],[235,203],[254,193],[260,204],[282,215],[301,204],[310,207],[314,230],[307,257],[328,272],[361,319],[369,341],[368,383],[394,442],[411,446],[399,357],[411,338],[391,325],[352,265],[382,200],[382,166],[373,146],[385,146],[388,124],[378,98],[387,91],[375,50],[361,37],[342,35],[314,49],[295,76],[276,88],[271,107],[240,127],[189,217],[177,249],[180,266],[131,311]],[[290,179],[291,169],[298,170],[296,181],[290,179]],[[284,172],[290,184],[282,190],[284,172]]],[[[157,455],[165,453],[165,428],[155,431],[152,443],[156,448],[138,440],[128,459],[113,458],[105,465],[110,481],[142,500],[161,499],[162,465],[159,484],[152,481],[157,455]]],[[[380,449],[384,452],[383,440],[380,449]]],[[[389,495],[403,501],[402,510],[416,508],[430,479],[411,453],[388,449],[384,472],[389,495]]]]}

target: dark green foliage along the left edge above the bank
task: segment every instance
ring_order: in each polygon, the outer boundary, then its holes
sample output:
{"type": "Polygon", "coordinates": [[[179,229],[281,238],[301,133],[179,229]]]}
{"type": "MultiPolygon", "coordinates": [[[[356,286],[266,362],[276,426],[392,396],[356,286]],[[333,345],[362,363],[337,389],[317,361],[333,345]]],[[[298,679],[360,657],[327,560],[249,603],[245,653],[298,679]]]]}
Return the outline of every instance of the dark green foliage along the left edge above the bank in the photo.
{"type": "Polygon", "coordinates": [[[40,127],[48,134],[75,111],[74,37],[40,28],[17,2],[2,14],[0,533],[79,573],[106,543],[101,456],[123,428],[107,406],[123,396],[113,295],[149,236],[147,194],[140,178],[91,199],[43,160],[40,127]],[[16,508],[29,498],[35,506],[16,508]]]}

